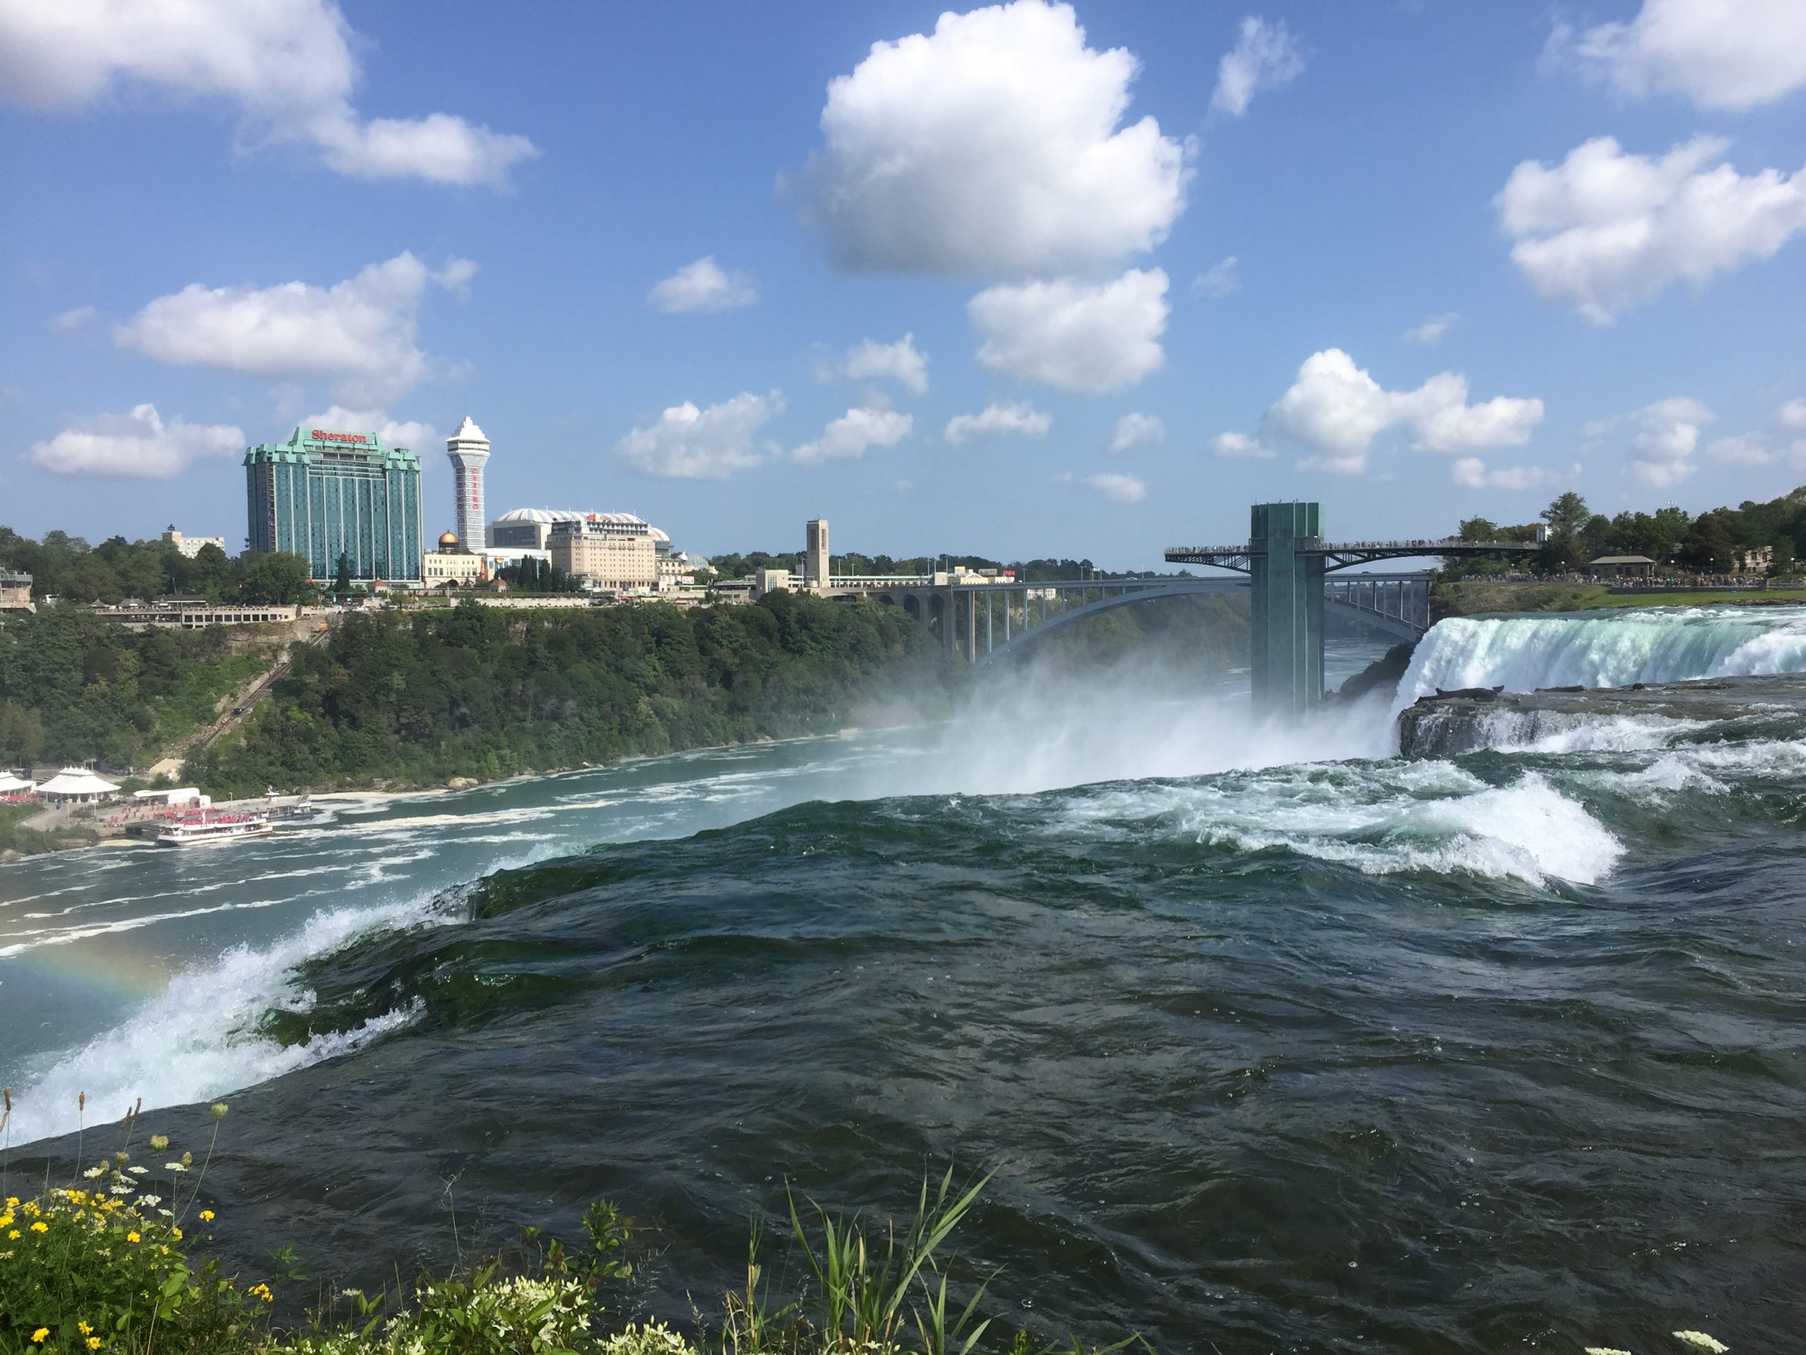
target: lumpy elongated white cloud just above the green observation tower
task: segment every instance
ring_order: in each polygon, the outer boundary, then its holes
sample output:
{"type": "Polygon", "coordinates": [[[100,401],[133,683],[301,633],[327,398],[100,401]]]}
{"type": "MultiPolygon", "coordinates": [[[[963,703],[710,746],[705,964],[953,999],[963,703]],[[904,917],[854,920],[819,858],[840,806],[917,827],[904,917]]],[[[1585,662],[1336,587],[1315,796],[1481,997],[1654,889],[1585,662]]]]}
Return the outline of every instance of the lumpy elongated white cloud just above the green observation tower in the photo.
{"type": "Polygon", "coordinates": [[[1291,387],[1262,419],[1268,437],[1288,437],[1318,455],[1320,470],[1358,475],[1367,450],[1387,428],[1407,426],[1420,452],[1483,452],[1519,446],[1542,423],[1542,401],[1495,396],[1468,403],[1456,372],[1432,376],[1416,390],[1387,390],[1342,349],[1313,352],[1291,387]]]}

